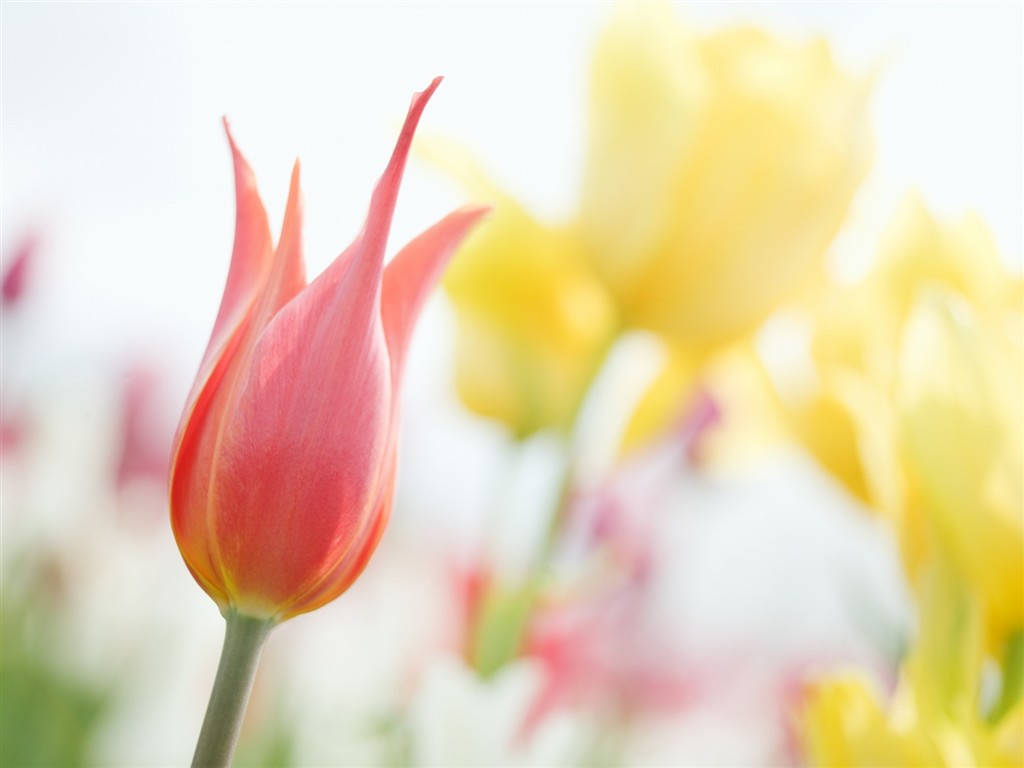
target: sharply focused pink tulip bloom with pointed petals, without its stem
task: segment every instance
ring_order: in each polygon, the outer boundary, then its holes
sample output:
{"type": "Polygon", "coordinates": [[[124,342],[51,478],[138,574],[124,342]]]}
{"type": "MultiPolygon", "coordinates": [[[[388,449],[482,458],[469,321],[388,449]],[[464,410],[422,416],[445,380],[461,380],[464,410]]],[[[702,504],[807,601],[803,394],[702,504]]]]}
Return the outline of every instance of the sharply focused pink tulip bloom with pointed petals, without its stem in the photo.
{"type": "Polygon", "coordinates": [[[280,622],[330,602],[358,577],[387,523],[409,339],[449,257],[484,213],[450,214],[385,267],[410,144],[439,80],[414,96],[362,231],[309,285],[298,163],[274,250],[228,132],[234,250],[170,473],[178,547],[222,612],[280,622]]]}

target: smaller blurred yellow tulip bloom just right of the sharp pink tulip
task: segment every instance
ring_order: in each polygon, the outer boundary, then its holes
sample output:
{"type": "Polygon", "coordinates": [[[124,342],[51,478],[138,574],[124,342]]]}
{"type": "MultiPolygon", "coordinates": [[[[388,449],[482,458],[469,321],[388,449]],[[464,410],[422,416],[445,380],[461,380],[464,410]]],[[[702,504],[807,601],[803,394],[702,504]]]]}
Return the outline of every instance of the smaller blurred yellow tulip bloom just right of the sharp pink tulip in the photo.
{"type": "Polygon", "coordinates": [[[443,281],[458,316],[460,398],[517,437],[567,429],[617,330],[578,231],[536,219],[450,143],[435,139],[421,155],[494,205],[443,281]]]}

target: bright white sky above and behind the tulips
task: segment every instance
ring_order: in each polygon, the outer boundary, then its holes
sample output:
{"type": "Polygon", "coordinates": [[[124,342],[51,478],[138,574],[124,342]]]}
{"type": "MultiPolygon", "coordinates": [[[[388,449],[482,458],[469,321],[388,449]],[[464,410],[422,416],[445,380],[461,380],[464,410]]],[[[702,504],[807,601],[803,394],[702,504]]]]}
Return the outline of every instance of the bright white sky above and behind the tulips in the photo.
{"type": "MultiPolygon", "coordinates": [[[[980,210],[1021,264],[1020,3],[687,3],[697,27],[823,34],[886,62],[876,171],[844,248],[870,249],[904,190],[980,210]]],[[[607,4],[10,3],[2,6],[2,246],[45,237],[47,356],[158,344],[195,365],[233,226],[227,115],[280,222],[300,156],[315,273],[357,230],[414,90],[542,214],[573,205],[590,51],[607,4]]],[[[413,163],[392,245],[460,203],[413,163]]]]}

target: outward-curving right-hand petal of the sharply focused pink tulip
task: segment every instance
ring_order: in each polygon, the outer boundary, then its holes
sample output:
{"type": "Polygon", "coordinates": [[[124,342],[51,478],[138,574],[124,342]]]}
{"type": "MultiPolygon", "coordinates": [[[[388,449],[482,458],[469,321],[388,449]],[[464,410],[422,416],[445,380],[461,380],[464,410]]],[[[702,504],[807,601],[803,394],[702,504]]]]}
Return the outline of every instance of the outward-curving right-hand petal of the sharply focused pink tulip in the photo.
{"type": "Polygon", "coordinates": [[[385,267],[381,315],[396,389],[401,384],[409,339],[427,294],[440,280],[456,248],[489,210],[467,206],[449,214],[402,248],[385,267]]]}

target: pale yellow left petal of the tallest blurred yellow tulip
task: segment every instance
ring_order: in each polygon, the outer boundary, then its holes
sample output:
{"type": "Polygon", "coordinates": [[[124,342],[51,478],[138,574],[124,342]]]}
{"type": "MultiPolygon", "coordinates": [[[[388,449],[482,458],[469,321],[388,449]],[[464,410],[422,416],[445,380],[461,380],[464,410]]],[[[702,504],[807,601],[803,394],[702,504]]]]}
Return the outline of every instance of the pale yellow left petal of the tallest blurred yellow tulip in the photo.
{"type": "Polygon", "coordinates": [[[581,222],[591,258],[627,306],[646,280],[695,140],[708,73],[666,3],[621,3],[591,72],[581,222]]]}

